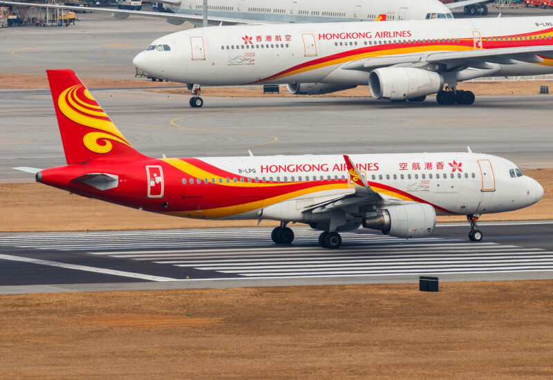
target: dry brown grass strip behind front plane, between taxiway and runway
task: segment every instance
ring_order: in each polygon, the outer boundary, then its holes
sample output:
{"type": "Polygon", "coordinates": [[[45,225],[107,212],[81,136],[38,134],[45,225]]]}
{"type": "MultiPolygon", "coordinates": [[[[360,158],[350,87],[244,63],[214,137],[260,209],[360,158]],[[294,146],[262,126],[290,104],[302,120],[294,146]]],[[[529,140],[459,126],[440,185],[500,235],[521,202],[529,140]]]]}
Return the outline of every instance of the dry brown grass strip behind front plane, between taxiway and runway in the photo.
{"type": "MultiPolygon", "coordinates": [[[[553,217],[553,169],[525,173],[545,189],[532,207],[485,215],[486,220],[545,220],[553,217]]],[[[464,221],[464,216],[440,216],[440,222],[464,221]]],[[[44,184],[0,184],[0,231],[100,231],[124,229],[181,229],[210,227],[254,227],[256,220],[221,221],[171,218],[138,211],[100,200],[71,195],[44,184]]],[[[263,220],[262,227],[277,222],[263,220]]]]}

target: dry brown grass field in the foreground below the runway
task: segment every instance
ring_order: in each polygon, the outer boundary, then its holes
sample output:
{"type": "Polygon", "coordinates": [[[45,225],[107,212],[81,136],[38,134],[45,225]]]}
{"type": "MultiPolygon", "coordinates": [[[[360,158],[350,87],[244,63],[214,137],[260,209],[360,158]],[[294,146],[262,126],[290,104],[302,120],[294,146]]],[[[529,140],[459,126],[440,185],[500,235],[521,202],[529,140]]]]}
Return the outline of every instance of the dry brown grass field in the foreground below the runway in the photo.
{"type": "Polygon", "coordinates": [[[5,379],[551,379],[552,285],[4,295],[0,372],[5,379]]]}

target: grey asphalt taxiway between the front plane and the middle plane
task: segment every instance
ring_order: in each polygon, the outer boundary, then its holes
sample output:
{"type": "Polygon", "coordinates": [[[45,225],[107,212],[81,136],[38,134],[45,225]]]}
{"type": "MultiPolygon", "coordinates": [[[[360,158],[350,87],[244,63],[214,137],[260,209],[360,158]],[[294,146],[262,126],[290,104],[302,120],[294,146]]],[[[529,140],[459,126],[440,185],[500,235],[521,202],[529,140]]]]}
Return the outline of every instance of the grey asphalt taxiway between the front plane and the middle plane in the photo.
{"type": "MultiPolygon", "coordinates": [[[[429,99],[394,104],[371,98],[205,97],[93,90],[127,140],[151,157],[472,151],[523,169],[553,167],[547,96],[482,96],[470,107],[429,99]]],[[[0,182],[32,181],[13,167],[64,165],[46,90],[0,91],[0,182]]]]}

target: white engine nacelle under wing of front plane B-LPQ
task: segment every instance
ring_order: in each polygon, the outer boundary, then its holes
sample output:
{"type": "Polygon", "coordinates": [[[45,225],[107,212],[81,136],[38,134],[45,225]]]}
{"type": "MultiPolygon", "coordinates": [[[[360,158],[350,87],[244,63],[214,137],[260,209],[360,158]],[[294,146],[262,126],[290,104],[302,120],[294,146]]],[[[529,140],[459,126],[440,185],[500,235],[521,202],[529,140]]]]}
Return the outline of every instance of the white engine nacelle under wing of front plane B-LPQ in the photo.
{"type": "Polygon", "coordinates": [[[364,218],[362,225],[396,238],[424,238],[432,234],[436,213],[431,205],[421,203],[391,206],[377,216],[364,218]]]}

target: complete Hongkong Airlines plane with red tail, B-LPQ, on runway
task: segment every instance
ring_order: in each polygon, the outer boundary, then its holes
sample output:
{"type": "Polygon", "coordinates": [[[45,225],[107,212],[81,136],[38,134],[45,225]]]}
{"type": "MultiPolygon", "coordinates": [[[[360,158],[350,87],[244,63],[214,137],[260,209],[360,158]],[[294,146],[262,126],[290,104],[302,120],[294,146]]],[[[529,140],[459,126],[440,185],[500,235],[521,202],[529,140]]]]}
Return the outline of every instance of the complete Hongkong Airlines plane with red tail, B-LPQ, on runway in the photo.
{"type": "Polygon", "coordinates": [[[323,231],[360,226],[399,238],[428,236],[436,213],[467,215],[482,239],[482,213],[521,209],[543,189],[512,162],[476,153],[164,158],[135,151],[71,70],[48,70],[67,165],[16,168],[37,182],[135,209],[185,218],[279,220],[277,244],[294,239],[290,222],[323,231]]]}

